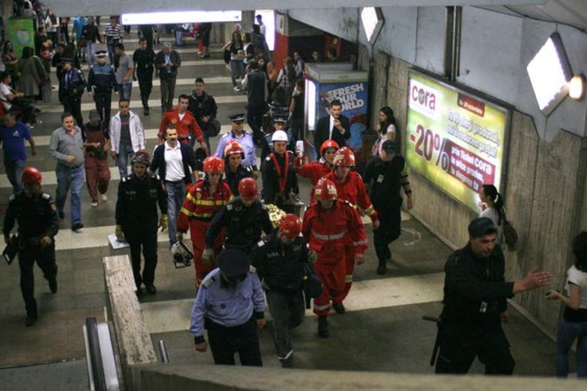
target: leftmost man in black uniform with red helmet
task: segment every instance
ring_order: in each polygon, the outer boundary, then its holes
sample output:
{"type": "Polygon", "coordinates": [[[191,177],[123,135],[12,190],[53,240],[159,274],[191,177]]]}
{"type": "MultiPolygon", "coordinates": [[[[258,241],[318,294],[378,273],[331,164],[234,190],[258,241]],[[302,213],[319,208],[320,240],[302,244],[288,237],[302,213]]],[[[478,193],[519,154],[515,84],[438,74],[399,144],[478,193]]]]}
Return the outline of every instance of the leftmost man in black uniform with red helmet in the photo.
{"type": "Polygon", "coordinates": [[[51,196],[43,193],[41,172],[34,167],[22,171],[22,192],[10,196],[4,217],[4,242],[9,244],[10,232],[18,222],[18,266],[21,269],[21,292],[25,300],[25,325],[32,326],[37,318],[35,300],[35,261],[49,281],[51,293],[57,292],[55,235],[59,231],[59,216],[51,196]]]}

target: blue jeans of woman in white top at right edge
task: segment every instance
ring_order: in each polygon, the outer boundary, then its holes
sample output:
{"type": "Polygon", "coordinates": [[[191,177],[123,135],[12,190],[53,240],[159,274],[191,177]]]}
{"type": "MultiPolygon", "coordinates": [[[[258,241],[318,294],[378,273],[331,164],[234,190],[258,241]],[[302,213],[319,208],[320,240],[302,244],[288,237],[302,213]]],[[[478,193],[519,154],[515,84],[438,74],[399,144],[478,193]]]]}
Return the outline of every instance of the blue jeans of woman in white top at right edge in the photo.
{"type": "Polygon", "coordinates": [[[566,378],[569,375],[569,350],[577,340],[577,377],[587,378],[587,322],[567,322],[565,319],[558,326],[556,334],[556,376],[566,378]]]}

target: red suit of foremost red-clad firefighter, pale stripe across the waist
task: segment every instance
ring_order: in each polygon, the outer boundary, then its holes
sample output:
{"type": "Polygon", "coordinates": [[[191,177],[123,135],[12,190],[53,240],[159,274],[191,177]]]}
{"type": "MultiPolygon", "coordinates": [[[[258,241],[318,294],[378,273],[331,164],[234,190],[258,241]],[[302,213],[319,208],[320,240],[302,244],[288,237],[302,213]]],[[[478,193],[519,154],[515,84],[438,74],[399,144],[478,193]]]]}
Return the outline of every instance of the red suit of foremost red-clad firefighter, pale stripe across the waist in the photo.
{"type": "Polygon", "coordinates": [[[355,251],[363,253],[367,248],[365,227],[359,214],[348,203],[335,202],[333,209],[325,212],[318,203],[312,203],[303,216],[303,236],[318,259],[314,271],[322,281],[323,291],[314,299],[314,313],[328,315],[330,300],[336,301],[345,290],[345,244],[350,235],[355,251]]]}

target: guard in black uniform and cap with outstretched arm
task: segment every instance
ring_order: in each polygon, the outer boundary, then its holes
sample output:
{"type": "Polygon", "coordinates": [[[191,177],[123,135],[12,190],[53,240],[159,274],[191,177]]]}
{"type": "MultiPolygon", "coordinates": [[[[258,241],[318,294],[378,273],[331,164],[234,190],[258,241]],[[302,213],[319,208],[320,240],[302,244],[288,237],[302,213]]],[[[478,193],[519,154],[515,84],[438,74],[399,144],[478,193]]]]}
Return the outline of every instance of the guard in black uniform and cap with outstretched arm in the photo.
{"type": "Polygon", "coordinates": [[[487,375],[511,375],[514,359],[501,321],[507,321],[508,297],[548,285],[552,276],[535,268],[515,282],[504,278],[504,254],[495,245],[491,219],[478,217],[468,226],[467,246],[444,265],[444,299],[438,328],[440,351],[436,373],[467,373],[475,356],[487,375]]]}

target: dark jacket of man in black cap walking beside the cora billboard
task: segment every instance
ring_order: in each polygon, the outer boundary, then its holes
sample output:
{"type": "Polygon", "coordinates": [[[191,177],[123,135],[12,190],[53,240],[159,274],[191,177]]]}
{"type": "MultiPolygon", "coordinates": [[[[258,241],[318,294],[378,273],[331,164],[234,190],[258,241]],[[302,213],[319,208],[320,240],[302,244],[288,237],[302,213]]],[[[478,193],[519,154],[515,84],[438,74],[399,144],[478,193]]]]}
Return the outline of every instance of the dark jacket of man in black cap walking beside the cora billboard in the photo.
{"type": "Polygon", "coordinates": [[[406,160],[401,155],[395,155],[390,162],[381,158],[373,158],[365,166],[363,182],[372,183],[369,198],[377,210],[397,209],[402,206],[402,170],[406,160]]]}

